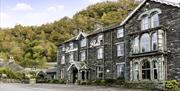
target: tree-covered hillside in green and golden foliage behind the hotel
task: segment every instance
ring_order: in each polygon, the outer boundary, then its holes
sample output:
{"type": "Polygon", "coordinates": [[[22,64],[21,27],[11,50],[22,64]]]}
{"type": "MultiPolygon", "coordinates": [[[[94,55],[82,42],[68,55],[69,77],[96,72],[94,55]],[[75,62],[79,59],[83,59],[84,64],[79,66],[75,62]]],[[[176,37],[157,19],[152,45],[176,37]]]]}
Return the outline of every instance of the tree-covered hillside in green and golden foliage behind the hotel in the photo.
{"type": "Polygon", "coordinates": [[[7,60],[13,56],[24,67],[44,68],[46,62],[56,61],[57,45],[74,36],[75,29],[89,32],[97,23],[119,23],[136,5],[135,0],[102,2],[77,12],[73,18],[64,17],[54,23],[0,28],[0,58],[7,60]]]}

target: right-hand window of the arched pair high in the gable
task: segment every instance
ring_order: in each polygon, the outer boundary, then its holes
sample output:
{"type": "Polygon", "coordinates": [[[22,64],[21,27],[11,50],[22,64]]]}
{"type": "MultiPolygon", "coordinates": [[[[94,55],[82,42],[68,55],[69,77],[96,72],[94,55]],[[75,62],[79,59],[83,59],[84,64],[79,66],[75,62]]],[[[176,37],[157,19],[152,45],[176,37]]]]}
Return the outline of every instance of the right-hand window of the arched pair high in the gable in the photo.
{"type": "Polygon", "coordinates": [[[157,12],[153,13],[151,16],[151,28],[159,26],[159,15],[157,12]]]}

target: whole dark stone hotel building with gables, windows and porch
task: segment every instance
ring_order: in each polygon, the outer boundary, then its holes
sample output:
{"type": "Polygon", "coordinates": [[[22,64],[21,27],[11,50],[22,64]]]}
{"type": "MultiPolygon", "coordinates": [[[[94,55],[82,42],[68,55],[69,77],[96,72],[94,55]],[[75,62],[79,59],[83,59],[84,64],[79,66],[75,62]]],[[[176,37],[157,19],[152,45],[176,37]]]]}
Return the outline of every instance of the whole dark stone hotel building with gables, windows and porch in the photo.
{"type": "Polygon", "coordinates": [[[180,80],[180,5],[144,0],[120,25],[60,44],[57,61],[58,77],[70,82],[180,80]]]}

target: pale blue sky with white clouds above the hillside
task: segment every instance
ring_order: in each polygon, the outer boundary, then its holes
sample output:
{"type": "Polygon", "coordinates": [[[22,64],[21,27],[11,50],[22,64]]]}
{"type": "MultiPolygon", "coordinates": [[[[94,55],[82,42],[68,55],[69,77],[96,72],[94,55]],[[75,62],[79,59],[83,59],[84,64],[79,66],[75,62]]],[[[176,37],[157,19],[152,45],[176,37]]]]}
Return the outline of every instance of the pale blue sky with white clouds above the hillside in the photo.
{"type": "MultiPolygon", "coordinates": [[[[88,5],[107,0],[0,0],[0,27],[41,25],[72,17],[88,5]]],[[[108,0],[116,1],[116,0],[108,0]]],[[[180,0],[167,0],[180,2],[180,0]]]]}

